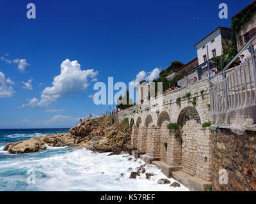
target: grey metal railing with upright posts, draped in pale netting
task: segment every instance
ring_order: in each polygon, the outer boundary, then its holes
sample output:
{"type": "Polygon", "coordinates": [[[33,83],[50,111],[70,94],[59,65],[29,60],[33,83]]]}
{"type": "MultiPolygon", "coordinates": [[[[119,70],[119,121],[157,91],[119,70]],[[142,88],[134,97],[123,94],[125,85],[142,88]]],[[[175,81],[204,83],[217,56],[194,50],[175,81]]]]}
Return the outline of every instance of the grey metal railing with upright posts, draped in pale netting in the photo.
{"type": "Polygon", "coordinates": [[[243,64],[231,71],[226,71],[227,77],[220,81],[217,80],[218,83],[210,87],[211,115],[226,117],[226,122],[229,124],[230,113],[237,117],[236,114],[239,111],[251,108],[247,117],[252,117],[255,123],[255,73],[255,54],[248,57],[243,64]]]}

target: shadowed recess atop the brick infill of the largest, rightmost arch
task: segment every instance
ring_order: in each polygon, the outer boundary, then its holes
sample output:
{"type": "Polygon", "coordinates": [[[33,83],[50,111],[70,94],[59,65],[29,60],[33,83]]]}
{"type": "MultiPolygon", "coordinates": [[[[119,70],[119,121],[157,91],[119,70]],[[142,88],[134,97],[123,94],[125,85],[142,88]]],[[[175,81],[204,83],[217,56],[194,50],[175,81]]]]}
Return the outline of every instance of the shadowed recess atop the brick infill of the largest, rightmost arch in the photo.
{"type": "Polygon", "coordinates": [[[197,110],[192,106],[188,106],[186,108],[183,108],[182,111],[180,112],[177,123],[179,124],[180,127],[183,127],[188,120],[192,119],[195,119],[196,122],[201,124],[200,115],[198,114],[197,110]]]}

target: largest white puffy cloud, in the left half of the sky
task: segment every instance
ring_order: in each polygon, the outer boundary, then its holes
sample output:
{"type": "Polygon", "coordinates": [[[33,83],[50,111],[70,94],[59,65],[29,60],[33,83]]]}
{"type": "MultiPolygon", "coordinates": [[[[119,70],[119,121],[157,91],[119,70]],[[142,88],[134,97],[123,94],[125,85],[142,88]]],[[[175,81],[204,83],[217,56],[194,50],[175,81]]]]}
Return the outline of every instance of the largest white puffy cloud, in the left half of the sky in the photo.
{"type": "Polygon", "coordinates": [[[88,78],[95,78],[98,74],[94,69],[82,70],[77,61],[66,59],[61,63],[60,75],[54,77],[52,87],[46,87],[42,91],[40,100],[37,98],[27,99],[24,106],[47,107],[58,99],[67,98],[72,94],[83,94],[88,87],[88,78]]]}

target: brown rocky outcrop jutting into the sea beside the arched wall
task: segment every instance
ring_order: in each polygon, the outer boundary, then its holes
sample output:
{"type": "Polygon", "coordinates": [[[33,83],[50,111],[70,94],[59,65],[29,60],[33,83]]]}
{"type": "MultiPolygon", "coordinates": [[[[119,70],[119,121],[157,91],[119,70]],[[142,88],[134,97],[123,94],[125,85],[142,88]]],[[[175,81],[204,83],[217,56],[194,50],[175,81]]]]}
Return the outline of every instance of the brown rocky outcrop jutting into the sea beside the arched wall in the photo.
{"type": "Polygon", "coordinates": [[[131,128],[128,121],[115,124],[113,116],[99,119],[85,119],[70,129],[69,133],[37,136],[16,143],[7,143],[4,150],[11,154],[37,152],[51,147],[65,147],[67,150],[87,148],[96,152],[120,154],[129,149],[131,128]]]}

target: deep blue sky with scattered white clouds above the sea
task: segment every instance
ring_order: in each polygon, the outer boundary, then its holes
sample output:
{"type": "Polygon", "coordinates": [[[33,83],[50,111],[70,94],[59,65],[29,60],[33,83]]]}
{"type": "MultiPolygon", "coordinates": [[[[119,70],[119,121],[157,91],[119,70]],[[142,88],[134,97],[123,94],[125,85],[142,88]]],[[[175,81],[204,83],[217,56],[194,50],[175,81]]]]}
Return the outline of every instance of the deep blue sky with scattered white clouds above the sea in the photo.
{"type": "Polygon", "coordinates": [[[128,84],[194,59],[195,43],[251,2],[2,0],[0,128],[70,128],[100,115],[109,105],[89,97],[96,80],[128,84]],[[28,3],[36,19],[26,18],[28,3]]]}

